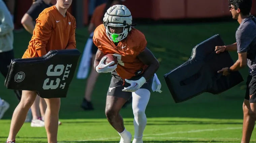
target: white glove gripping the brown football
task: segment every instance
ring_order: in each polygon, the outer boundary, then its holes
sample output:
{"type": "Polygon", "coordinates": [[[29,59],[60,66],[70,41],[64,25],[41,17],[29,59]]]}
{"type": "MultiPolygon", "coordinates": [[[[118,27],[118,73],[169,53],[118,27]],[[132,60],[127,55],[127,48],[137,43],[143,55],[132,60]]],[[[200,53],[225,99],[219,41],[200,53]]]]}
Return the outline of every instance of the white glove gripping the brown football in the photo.
{"type": "Polygon", "coordinates": [[[106,58],[107,57],[104,57],[100,60],[99,65],[95,67],[96,72],[98,72],[98,73],[107,73],[107,72],[113,72],[114,70],[116,70],[117,64],[115,66],[110,66],[110,65],[115,63],[114,61],[112,61],[112,62],[110,62],[106,65],[104,64],[104,60],[106,58]]]}

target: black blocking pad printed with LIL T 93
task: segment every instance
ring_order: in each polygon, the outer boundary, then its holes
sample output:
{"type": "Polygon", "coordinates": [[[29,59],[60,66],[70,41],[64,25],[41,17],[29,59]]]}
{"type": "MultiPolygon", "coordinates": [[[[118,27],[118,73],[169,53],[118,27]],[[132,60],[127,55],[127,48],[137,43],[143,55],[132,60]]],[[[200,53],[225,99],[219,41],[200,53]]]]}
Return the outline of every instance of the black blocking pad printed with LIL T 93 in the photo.
{"type": "Polygon", "coordinates": [[[5,86],[36,91],[42,98],[66,97],[80,55],[77,49],[66,49],[37,58],[12,59],[5,86]]]}

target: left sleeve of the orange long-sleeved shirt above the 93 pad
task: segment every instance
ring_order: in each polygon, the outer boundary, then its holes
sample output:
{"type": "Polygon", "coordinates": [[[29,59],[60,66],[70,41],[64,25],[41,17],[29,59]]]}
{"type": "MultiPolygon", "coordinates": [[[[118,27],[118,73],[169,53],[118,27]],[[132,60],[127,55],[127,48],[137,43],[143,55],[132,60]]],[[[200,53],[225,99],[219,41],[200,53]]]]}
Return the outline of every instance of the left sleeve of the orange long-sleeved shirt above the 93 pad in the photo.
{"type": "Polygon", "coordinates": [[[35,36],[35,49],[39,57],[47,54],[46,53],[46,44],[52,34],[52,21],[49,14],[40,14],[34,29],[35,36]]]}

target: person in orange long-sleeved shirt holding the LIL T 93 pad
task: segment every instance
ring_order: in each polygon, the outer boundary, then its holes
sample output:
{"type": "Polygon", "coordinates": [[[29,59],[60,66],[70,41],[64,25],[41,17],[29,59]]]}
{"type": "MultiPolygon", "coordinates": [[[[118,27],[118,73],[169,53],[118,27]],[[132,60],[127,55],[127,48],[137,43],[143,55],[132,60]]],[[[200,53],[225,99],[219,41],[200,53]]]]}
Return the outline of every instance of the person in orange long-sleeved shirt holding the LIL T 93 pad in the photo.
{"type": "MultiPolygon", "coordinates": [[[[75,18],[67,11],[72,0],[57,0],[56,5],[44,9],[36,19],[33,36],[22,58],[41,57],[51,50],[75,49],[75,18]]],[[[22,98],[14,110],[7,143],[15,143],[15,137],[25,122],[29,108],[37,93],[22,91],[22,98]]],[[[57,143],[60,98],[46,99],[45,129],[48,143],[57,143]]]]}

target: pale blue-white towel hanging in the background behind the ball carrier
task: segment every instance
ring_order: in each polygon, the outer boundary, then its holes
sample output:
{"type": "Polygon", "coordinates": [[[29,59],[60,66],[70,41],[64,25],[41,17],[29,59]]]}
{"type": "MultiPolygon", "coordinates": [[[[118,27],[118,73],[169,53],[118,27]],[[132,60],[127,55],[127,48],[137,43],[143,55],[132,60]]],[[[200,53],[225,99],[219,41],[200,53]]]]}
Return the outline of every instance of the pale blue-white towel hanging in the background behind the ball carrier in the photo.
{"type": "Polygon", "coordinates": [[[85,44],[83,56],[82,56],[82,59],[77,71],[77,75],[76,75],[77,79],[86,79],[89,73],[89,69],[91,68],[92,44],[93,44],[92,38],[93,38],[93,32],[90,34],[90,37],[88,38],[85,44]]]}

